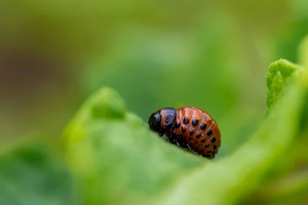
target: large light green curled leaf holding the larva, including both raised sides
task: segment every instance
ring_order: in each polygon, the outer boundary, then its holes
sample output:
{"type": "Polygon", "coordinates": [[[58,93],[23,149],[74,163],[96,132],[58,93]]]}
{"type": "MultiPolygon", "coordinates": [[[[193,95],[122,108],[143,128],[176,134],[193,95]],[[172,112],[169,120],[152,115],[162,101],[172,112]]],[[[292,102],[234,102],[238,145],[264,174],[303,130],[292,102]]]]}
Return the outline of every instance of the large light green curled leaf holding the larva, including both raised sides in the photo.
{"type": "MultiPolygon", "coordinates": [[[[279,60],[270,67],[267,83],[273,94],[270,105],[275,104],[275,109],[239,150],[213,162],[167,144],[125,110],[116,92],[108,88],[98,91],[63,135],[69,167],[86,203],[239,203],[262,187],[267,172],[289,151],[300,132],[307,73],[279,60]],[[98,115],[95,107],[109,114],[98,115]]],[[[223,137],[228,137],[225,133],[223,137]]]]}

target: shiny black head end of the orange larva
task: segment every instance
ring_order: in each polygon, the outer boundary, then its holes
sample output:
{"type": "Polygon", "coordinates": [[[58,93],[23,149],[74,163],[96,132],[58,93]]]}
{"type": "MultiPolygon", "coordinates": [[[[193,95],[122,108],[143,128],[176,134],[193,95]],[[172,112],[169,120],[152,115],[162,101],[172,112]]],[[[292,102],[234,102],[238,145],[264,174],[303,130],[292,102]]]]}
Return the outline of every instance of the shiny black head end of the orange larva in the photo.
{"type": "Polygon", "coordinates": [[[176,109],[174,108],[163,108],[151,114],[148,120],[150,130],[163,136],[168,128],[174,124],[176,115],[176,109]]]}

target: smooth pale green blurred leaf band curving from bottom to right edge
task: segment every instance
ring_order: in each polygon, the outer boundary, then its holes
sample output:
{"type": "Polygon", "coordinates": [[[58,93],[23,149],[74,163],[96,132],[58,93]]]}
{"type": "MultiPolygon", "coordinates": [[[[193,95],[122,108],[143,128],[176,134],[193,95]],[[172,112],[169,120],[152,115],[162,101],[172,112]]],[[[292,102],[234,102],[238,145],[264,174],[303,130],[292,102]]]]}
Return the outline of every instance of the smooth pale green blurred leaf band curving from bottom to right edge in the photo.
{"type": "Polygon", "coordinates": [[[307,74],[302,72],[284,91],[264,125],[241,149],[183,178],[160,204],[238,204],[254,189],[262,189],[267,170],[283,153],[290,151],[292,140],[298,137],[300,114],[308,91],[307,74]]]}

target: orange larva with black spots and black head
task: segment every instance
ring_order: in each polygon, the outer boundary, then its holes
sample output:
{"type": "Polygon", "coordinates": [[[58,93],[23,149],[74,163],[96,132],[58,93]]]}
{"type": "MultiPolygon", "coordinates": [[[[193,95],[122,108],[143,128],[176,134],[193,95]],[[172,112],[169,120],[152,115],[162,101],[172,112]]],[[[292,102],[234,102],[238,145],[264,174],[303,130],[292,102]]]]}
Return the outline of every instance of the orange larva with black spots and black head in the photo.
{"type": "MultiPolygon", "coordinates": [[[[164,108],[157,113],[161,118],[159,126],[161,130],[158,131],[157,125],[153,131],[160,133],[161,136],[165,133],[173,144],[191,149],[206,158],[215,157],[221,144],[220,131],[216,121],[208,113],[189,106],[179,109],[164,108]]],[[[152,121],[149,120],[149,125],[150,122],[152,121]]]]}

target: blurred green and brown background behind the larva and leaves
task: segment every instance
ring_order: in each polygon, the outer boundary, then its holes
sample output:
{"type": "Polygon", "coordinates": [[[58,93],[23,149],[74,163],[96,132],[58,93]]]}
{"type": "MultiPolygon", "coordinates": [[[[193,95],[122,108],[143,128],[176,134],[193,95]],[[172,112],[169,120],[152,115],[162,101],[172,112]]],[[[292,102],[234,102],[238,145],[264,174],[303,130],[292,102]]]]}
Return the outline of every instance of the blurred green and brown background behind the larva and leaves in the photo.
{"type": "Polygon", "coordinates": [[[308,3],[294,1],[1,1],[0,137],[57,138],[102,86],[143,120],[196,106],[222,131],[221,152],[265,115],[265,74],[297,62],[308,3]]]}

